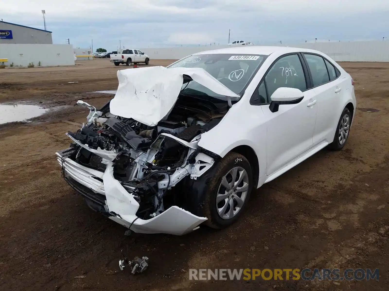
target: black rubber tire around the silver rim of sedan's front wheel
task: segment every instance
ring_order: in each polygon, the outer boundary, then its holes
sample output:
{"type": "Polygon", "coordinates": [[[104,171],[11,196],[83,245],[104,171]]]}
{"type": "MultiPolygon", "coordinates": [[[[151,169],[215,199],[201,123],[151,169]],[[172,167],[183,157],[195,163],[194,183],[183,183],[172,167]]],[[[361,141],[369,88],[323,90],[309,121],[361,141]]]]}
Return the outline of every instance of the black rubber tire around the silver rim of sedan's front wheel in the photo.
{"type": "MultiPolygon", "coordinates": [[[[236,152],[228,153],[221,161],[217,163],[217,165],[215,165],[215,167],[216,167],[215,175],[210,180],[209,187],[205,192],[204,215],[208,218],[205,224],[215,229],[222,229],[236,222],[240,217],[240,215],[242,215],[245,206],[247,205],[247,201],[250,198],[250,193],[253,187],[253,178],[252,178],[252,170],[249,161],[247,161],[247,159],[244,156],[242,156],[241,154],[237,154],[236,152]],[[225,191],[224,190],[225,188],[223,189],[223,186],[221,186],[221,182],[224,176],[227,175],[230,170],[232,170],[237,166],[243,168],[246,171],[249,188],[245,196],[243,206],[240,208],[240,210],[232,218],[224,219],[220,217],[217,211],[217,207],[219,207],[218,206],[219,204],[216,203],[217,192],[219,191],[219,187],[221,187],[220,188],[221,192],[225,191]]],[[[242,194],[240,195],[242,196],[242,194]]],[[[225,203],[225,202],[221,201],[219,203],[225,203]]],[[[229,208],[230,206],[227,206],[227,212],[229,208]]]]}

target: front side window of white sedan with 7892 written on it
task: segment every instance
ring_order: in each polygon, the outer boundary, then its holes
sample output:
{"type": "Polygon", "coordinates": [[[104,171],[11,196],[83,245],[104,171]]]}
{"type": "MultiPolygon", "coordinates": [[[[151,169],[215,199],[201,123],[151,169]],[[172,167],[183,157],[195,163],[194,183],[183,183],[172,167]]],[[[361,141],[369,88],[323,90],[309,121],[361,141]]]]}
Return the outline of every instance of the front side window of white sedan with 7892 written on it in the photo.
{"type": "Polygon", "coordinates": [[[275,62],[266,74],[265,81],[269,98],[280,87],[307,90],[303,67],[298,55],[287,55],[275,62]]]}

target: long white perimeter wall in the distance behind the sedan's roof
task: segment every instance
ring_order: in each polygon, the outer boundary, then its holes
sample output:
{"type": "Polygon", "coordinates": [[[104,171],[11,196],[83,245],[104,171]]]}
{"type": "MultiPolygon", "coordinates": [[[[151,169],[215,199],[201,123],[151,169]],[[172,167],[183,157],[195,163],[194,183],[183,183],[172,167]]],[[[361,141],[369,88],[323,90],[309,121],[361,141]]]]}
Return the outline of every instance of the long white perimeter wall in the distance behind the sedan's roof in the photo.
{"type": "MultiPolygon", "coordinates": [[[[329,55],[334,61],[353,62],[389,62],[389,41],[378,42],[318,42],[299,43],[294,45],[282,45],[284,47],[301,47],[314,49],[329,55]]],[[[159,49],[140,49],[150,56],[151,59],[181,59],[196,52],[205,50],[223,49],[230,47],[209,46],[209,47],[171,47],[159,49]]]]}

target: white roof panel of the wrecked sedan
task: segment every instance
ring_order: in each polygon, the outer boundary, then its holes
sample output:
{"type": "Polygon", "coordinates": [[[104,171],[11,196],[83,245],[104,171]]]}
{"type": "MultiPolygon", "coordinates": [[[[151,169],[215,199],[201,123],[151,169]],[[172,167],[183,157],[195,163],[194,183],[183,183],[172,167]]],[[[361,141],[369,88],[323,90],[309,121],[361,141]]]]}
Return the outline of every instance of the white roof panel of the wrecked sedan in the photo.
{"type": "MultiPolygon", "coordinates": [[[[290,52],[314,52],[321,53],[317,50],[310,49],[302,49],[296,47],[268,47],[262,45],[248,45],[248,46],[238,46],[238,47],[229,47],[226,49],[215,49],[215,50],[207,50],[204,52],[198,52],[194,55],[202,55],[202,54],[256,54],[256,55],[270,55],[273,53],[277,53],[279,55],[287,54],[290,52]]],[[[322,54],[322,53],[321,53],[322,54]]]]}

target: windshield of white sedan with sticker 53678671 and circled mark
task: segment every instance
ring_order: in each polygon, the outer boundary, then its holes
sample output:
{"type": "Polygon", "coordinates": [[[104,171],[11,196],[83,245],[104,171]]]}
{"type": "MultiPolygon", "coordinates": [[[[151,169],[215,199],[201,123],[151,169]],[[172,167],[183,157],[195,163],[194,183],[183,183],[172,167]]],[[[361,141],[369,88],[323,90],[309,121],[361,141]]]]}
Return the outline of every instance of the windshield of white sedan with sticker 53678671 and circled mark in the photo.
{"type": "MultiPolygon", "coordinates": [[[[186,57],[166,68],[203,68],[232,92],[242,97],[246,85],[266,57],[267,55],[253,54],[200,54],[186,57]]],[[[227,99],[226,96],[216,94],[196,81],[183,84],[181,94],[227,99]]],[[[238,101],[240,97],[233,100],[238,101]]]]}

